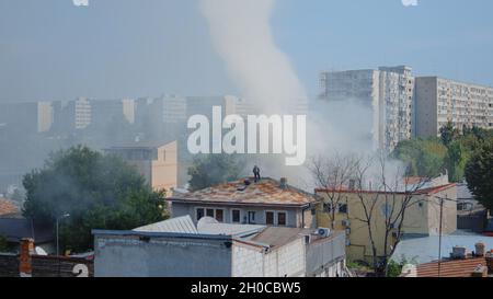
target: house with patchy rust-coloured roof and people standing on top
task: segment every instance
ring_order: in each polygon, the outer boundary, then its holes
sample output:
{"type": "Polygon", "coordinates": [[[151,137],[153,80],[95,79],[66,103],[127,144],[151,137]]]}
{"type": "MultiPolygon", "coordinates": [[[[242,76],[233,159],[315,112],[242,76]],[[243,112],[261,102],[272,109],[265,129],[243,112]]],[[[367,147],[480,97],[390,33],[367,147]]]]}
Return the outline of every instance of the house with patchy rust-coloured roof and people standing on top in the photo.
{"type": "Polygon", "coordinates": [[[314,197],[273,179],[218,184],[168,198],[173,217],[192,215],[195,223],[208,216],[225,223],[293,228],[314,227],[314,197]]]}

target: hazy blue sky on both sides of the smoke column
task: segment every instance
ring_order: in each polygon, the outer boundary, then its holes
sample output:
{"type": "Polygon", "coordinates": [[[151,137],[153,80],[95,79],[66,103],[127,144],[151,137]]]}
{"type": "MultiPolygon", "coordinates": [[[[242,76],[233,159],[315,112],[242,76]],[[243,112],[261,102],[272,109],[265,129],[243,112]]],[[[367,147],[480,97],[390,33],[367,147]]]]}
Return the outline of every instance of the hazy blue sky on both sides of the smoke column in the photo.
{"type": "MultiPolygon", "coordinates": [[[[311,96],[320,70],[380,65],[493,85],[492,11],[491,0],[277,0],[272,26],[311,96]]],[[[0,101],[162,93],[237,93],[197,0],[0,0],[0,101]]]]}

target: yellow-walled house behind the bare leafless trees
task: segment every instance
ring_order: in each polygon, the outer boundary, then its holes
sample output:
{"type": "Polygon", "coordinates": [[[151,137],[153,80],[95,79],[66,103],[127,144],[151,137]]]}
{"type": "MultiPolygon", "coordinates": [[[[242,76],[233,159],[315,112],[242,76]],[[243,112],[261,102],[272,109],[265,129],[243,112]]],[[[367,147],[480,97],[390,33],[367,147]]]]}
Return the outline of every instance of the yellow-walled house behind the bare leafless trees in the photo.
{"type": "Polygon", "coordinates": [[[383,257],[391,252],[391,245],[398,235],[398,227],[386,225],[386,219],[392,218],[393,226],[402,219],[398,211],[405,205],[405,217],[402,221],[401,235],[436,235],[440,230],[440,199],[444,198],[442,232],[452,233],[457,230],[457,197],[456,185],[447,184],[420,188],[417,191],[385,192],[357,189],[317,189],[321,198],[317,206],[317,223],[345,230],[347,233],[347,257],[352,261],[370,261],[372,246],[368,226],[365,222],[370,216],[372,239],[377,255],[383,257]],[[336,207],[331,207],[330,194],[341,195],[336,207]],[[445,200],[445,198],[448,198],[445,200]],[[406,203],[406,204],[403,204],[406,203]],[[336,209],[335,219],[331,219],[331,209],[336,209]],[[393,215],[393,216],[392,216],[393,215]],[[333,220],[333,226],[331,221],[333,220]],[[395,221],[397,220],[397,221],[395,221]],[[388,229],[387,229],[388,228],[388,229]],[[386,231],[391,231],[386,248],[386,231]]]}

